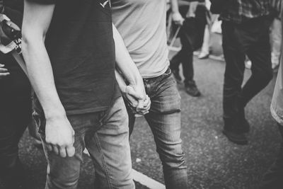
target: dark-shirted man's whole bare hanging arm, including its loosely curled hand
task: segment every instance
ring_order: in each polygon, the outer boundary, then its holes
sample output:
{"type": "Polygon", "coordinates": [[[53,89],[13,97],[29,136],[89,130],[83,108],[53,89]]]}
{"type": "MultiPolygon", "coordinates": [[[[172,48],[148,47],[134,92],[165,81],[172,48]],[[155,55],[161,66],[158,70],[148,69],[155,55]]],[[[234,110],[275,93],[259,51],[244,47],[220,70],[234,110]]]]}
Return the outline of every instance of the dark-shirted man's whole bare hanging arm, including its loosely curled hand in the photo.
{"type": "Polygon", "coordinates": [[[45,140],[50,144],[50,150],[64,157],[74,155],[74,130],[59,100],[45,48],[45,35],[53,11],[54,4],[43,5],[25,0],[22,45],[30,83],[45,113],[45,140]]]}

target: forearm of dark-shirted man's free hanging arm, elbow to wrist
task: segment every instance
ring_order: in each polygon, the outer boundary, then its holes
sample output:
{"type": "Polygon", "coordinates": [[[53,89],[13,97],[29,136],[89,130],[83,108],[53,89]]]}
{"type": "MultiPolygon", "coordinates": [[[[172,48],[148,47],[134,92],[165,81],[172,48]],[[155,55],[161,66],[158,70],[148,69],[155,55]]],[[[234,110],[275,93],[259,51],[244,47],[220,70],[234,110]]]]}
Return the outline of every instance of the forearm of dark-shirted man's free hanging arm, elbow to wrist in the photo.
{"type": "Polygon", "coordinates": [[[56,118],[65,116],[65,110],[55,88],[52,67],[43,39],[40,42],[34,36],[32,40],[23,36],[22,45],[28,77],[42,105],[45,117],[56,118]]]}

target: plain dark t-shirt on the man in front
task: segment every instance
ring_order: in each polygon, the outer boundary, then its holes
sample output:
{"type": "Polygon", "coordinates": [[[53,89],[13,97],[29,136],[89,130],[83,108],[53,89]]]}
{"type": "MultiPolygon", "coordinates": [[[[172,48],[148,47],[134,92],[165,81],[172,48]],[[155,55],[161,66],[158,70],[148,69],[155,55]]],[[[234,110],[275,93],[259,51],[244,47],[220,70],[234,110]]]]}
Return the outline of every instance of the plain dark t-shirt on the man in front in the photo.
{"type": "Polygon", "coordinates": [[[55,4],[45,45],[67,114],[106,110],[120,96],[109,2],[29,1],[55,4]]]}

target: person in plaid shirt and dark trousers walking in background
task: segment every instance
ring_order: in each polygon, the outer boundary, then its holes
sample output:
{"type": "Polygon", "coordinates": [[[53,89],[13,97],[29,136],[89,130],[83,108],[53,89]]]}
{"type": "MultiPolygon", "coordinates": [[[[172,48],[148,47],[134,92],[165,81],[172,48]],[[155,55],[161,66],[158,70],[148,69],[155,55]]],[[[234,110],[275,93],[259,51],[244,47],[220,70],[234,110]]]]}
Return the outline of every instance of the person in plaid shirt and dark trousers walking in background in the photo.
{"type": "Polygon", "coordinates": [[[224,74],[224,134],[231,142],[248,144],[250,125],[245,117],[247,103],[272,79],[270,53],[270,1],[228,0],[222,23],[224,74]],[[246,55],[252,62],[252,75],[242,87],[246,55]]]}

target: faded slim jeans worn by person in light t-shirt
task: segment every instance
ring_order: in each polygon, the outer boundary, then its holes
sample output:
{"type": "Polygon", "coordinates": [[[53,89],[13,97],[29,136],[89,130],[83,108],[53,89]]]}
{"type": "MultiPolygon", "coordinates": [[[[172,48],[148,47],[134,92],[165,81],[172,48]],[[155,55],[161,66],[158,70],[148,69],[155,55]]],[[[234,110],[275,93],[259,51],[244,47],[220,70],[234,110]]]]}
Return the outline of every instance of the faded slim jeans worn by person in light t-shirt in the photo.
{"type": "MultiPolygon", "coordinates": [[[[180,94],[171,69],[152,79],[144,79],[146,93],[151,98],[151,109],[145,115],[156,142],[156,151],[163,164],[167,189],[187,189],[187,166],[180,139],[180,94]]],[[[130,134],[134,115],[128,109],[130,134]]]]}

